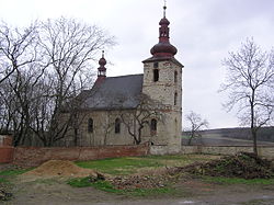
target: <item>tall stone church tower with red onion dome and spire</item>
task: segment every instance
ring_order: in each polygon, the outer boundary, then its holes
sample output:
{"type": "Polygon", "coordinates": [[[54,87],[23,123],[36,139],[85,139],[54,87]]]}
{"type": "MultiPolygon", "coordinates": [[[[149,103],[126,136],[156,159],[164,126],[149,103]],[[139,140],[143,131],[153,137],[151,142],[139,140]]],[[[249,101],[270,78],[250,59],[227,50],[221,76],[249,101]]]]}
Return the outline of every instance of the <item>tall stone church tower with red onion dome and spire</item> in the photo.
{"type": "Polygon", "coordinates": [[[157,123],[151,143],[161,147],[161,152],[172,153],[181,150],[183,65],[174,58],[178,50],[170,44],[170,22],[165,10],[164,5],[163,18],[159,22],[159,43],[150,49],[152,57],[142,61],[142,93],[162,104],[162,119],[151,121],[152,129],[157,123]]]}

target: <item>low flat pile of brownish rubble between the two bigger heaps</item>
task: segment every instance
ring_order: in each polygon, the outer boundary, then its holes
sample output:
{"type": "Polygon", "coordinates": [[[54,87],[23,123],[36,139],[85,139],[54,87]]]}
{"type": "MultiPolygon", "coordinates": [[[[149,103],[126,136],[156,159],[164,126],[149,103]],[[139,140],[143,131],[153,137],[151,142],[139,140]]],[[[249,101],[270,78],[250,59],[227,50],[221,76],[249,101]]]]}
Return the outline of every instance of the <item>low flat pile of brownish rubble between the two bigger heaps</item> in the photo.
{"type": "Polygon", "coordinates": [[[155,189],[165,186],[167,179],[148,175],[130,175],[127,178],[114,178],[111,183],[118,190],[155,189]]]}

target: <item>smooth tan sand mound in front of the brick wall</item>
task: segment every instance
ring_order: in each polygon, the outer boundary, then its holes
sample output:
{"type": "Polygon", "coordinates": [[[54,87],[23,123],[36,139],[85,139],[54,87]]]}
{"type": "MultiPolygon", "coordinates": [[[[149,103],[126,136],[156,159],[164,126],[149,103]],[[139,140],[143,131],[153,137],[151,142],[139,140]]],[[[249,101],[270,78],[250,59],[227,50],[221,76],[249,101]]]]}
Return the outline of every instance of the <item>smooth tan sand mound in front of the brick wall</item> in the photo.
{"type": "Polygon", "coordinates": [[[96,176],[98,174],[91,169],[79,168],[71,161],[49,160],[36,169],[24,173],[24,175],[81,178],[88,175],[96,176]]]}

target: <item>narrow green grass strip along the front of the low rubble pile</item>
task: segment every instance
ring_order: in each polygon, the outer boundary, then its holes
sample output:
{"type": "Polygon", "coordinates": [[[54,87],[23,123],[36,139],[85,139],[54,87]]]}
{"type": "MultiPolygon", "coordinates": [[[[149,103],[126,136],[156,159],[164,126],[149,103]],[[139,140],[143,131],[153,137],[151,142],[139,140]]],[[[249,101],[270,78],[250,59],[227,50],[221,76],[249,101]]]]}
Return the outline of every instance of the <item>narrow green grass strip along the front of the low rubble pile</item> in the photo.
{"type": "Polygon", "coordinates": [[[73,187],[92,186],[104,192],[130,195],[130,196],[153,196],[160,194],[174,194],[176,192],[172,187],[118,190],[115,189],[109,181],[99,180],[96,182],[91,183],[89,176],[70,179],[67,183],[73,187]]]}

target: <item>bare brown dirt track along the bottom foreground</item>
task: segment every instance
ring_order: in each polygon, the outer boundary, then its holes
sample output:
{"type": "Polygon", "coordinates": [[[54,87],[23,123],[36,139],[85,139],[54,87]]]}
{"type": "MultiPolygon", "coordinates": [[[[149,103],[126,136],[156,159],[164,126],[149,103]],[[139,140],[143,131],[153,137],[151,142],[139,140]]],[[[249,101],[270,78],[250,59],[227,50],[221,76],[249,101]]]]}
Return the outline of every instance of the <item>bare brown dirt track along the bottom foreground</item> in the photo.
{"type": "Polygon", "coordinates": [[[186,180],[175,195],[128,197],[93,187],[71,187],[64,179],[14,179],[11,205],[273,205],[274,185],[218,185],[186,180]]]}

